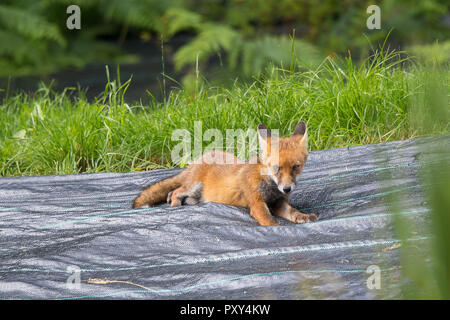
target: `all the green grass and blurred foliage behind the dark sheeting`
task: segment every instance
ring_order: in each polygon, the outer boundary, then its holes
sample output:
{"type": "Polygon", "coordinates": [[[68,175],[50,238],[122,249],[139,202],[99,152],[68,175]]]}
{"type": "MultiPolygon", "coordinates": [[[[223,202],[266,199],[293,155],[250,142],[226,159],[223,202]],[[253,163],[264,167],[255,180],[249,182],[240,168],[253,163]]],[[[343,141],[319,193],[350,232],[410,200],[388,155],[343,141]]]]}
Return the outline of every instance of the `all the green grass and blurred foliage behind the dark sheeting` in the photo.
{"type": "Polygon", "coordinates": [[[379,1],[379,30],[367,29],[370,4],[3,0],[0,174],[183,165],[170,161],[171,132],[196,120],[286,134],[302,118],[313,150],[447,133],[448,108],[424,98],[447,101],[447,1],[379,1]],[[81,30],[66,27],[71,4],[81,30]]]}

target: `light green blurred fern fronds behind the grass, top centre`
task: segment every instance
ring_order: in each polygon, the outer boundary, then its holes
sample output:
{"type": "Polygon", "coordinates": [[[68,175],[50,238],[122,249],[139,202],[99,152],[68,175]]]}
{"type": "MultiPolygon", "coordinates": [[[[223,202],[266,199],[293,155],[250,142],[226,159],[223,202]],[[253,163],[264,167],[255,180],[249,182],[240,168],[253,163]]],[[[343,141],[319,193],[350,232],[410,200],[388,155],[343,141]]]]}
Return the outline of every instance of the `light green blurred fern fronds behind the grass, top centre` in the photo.
{"type": "Polygon", "coordinates": [[[309,64],[318,64],[322,57],[310,43],[290,40],[286,36],[262,35],[246,37],[239,30],[225,24],[203,21],[199,14],[185,9],[170,9],[165,16],[168,39],[180,31],[193,31],[196,36],[174,55],[176,70],[208,61],[211,56],[226,52],[229,67],[245,76],[258,75],[266,66],[289,64],[294,58],[309,64]],[[298,51],[292,56],[291,47],[298,51]]]}

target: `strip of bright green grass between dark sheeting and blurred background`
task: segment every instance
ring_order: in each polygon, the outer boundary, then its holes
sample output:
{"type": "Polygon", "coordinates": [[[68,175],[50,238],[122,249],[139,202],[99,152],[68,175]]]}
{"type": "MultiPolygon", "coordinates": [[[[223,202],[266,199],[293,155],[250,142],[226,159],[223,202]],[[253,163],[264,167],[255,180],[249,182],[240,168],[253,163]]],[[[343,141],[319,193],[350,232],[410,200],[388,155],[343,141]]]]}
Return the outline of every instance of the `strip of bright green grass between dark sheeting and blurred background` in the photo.
{"type": "Polygon", "coordinates": [[[231,89],[194,79],[193,90],[172,91],[166,101],[146,106],[125,103],[130,83],[119,81],[108,81],[93,103],[82,93],[48,87],[8,97],[0,106],[0,175],[171,167],[178,143],[172,131],[193,132],[195,121],[223,133],[263,122],[286,135],[301,119],[308,123],[311,150],[448,133],[448,109],[432,125],[419,125],[434,112],[425,96],[443,91],[448,97],[448,66],[431,70],[401,56],[376,54],[359,65],[327,59],[302,72],[272,68],[265,78],[231,89]],[[423,83],[430,72],[439,81],[428,92],[423,83]]]}

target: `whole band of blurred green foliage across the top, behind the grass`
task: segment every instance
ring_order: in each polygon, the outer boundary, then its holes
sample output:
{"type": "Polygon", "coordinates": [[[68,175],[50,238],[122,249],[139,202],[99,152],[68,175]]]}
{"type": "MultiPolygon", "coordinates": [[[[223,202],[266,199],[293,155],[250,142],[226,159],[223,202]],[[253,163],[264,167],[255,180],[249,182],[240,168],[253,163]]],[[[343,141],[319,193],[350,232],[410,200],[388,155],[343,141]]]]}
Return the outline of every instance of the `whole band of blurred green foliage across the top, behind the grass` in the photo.
{"type": "Polygon", "coordinates": [[[269,65],[315,66],[350,48],[364,58],[369,41],[383,41],[391,28],[389,40],[400,45],[445,39],[448,32],[442,21],[448,15],[444,0],[383,0],[382,30],[366,29],[368,5],[358,0],[4,0],[0,41],[9,45],[0,47],[0,75],[124,61],[130,57],[123,56],[120,44],[127,34],[141,32],[156,35],[155,41],[181,32],[191,36],[173,56],[177,70],[201,67],[214,56],[222,61],[223,55],[227,69],[247,79],[269,65]],[[82,9],[80,31],[66,28],[65,9],[71,4],[82,9]],[[293,29],[294,57],[288,39],[293,29]],[[119,41],[105,44],[104,36],[119,41]]]}

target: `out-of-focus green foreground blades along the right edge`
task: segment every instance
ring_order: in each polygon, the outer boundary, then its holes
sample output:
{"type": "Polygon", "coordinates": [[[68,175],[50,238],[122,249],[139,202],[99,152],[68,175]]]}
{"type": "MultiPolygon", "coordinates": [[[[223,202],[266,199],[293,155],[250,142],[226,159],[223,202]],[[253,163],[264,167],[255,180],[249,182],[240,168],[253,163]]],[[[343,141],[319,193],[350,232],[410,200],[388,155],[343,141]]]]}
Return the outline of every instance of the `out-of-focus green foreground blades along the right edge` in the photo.
{"type": "MultiPolygon", "coordinates": [[[[445,69],[444,69],[445,70],[445,69]]],[[[449,73],[428,67],[422,70],[412,84],[417,93],[411,96],[411,126],[418,132],[430,132],[439,126],[448,126],[449,73]],[[426,72],[425,72],[426,71],[426,72]]],[[[424,193],[431,208],[430,224],[408,219],[400,214],[402,197],[388,203],[393,207],[396,236],[402,240],[402,291],[406,299],[450,299],[450,153],[446,144],[424,144],[420,174],[426,185],[424,193]],[[430,155],[433,155],[431,158],[430,155]],[[429,158],[430,157],[430,158],[429,158]],[[431,236],[421,241],[427,248],[424,259],[417,244],[409,239],[426,230],[431,236]]],[[[427,219],[428,220],[428,219],[427,219]]],[[[420,250],[423,252],[422,250],[420,250]]]]}

